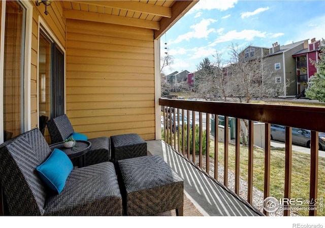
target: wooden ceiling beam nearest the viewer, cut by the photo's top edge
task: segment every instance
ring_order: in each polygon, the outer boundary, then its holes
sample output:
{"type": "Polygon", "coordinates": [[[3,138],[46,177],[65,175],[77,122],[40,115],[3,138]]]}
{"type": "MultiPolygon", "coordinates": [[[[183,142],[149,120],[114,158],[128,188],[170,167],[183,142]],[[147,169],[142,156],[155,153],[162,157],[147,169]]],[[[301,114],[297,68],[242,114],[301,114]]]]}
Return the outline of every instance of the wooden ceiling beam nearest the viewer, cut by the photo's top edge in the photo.
{"type": "Polygon", "coordinates": [[[161,17],[172,17],[172,10],[169,7],[156,6],[147,3],[134,1],[74,1],[75,3],[110,7],[122,10],[130,10],[145,14],[153,14],[161,17]]]}

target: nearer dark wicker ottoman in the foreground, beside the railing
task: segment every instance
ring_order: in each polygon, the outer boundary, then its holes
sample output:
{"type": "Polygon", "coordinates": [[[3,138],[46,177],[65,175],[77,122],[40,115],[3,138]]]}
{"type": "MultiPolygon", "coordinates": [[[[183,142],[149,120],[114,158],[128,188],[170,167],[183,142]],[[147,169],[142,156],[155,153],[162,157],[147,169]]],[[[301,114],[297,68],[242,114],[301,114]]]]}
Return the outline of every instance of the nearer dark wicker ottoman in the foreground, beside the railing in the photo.
{"type": "Polygon", "coordinates": [[[184,181],[158,155],[118,161],[124,183],[124,214],[153,215],[176,209],[183,215],[184,181]]]}

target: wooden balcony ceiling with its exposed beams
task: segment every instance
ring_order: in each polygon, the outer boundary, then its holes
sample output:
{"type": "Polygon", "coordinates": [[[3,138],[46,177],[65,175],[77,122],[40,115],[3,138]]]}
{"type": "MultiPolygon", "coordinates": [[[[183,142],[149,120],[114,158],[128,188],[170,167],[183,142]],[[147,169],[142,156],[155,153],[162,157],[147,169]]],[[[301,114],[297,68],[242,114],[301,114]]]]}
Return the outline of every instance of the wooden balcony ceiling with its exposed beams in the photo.
{"type": "Polygon", "coordinates": [[[158,39],[198,2],[61,1],[61,4],[67,19],[149,28],[154,30],[154,39],[158,39]]]}

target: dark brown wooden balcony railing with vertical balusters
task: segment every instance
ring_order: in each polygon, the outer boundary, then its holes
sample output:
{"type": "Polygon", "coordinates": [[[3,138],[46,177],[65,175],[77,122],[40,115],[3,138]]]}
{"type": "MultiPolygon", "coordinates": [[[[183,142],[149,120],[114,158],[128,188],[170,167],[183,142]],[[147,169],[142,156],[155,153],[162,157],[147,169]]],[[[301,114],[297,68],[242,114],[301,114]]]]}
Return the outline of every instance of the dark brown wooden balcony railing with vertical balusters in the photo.
{"type": "MultiPolygon", "coordinates": [[[[291,167],[292,167],[292,128],[302,128],[311,130],[311,143],[310,143],[310,164],[304,164],[310,166],[310,181],[309,181],[309,215],[316,215],[317,210],[313,210],[317,205],[317,189],[318,189],[318,132],[325,132],[325,125],[323,123],[325,118],[325,108],[322,107],[310,107],[310,106],[289,106],[289,105],[269,105],[269,104],[251,104],[251,103],[233,103],[233,102],[214,102],[214,101],[192,101],[192,100],[173,100],[173,99],[159,99],[159,105],[163,106],[164,115],[164,136],[165,141],[171,145],[171,147],[181,154],[184,158],[187,158],[189,162],[201,169],[206,175],[217,180],[218,177],[218,163],[223,164],[223,184],[228,186],[228,168],[229,168],[229,129],[224,128],[224,146],[223,146],[223,161],[218,161],[218,121],[214,123],[214,174],[210,175],[210,161],[209,156],[206,158],[206,167],[203,170],[202,161],[202,148],[205,143],[207,148],[207,154],[209,151],[209,140],[203,141],[202,137],[202,113],[206,113],[206,135],[209,138],[210,135],[210,114],[215,115],[215,120],[218,120],[218,115],[224,116],[224,123],[228,123],[229,117],[235,118],[235,193],[239,196],[239,181],[240,181],[240,120],[248,120],[248,193],[247,202],[252,204],[253,198],[253,150],[254,150],[254,122],[265,123],[265,149],[264,149],[264,199],[270,196],[270,169],[271,169],[271,124],[285,126],[285,168],[284,168],[284,195],[283,198],[290,199],[291,194],[291,167]],[[173,107],[169,108],[169,107],[173,107]],[[172,111],[174,110],[174,111],[172,111]],[[168,121],[169,116],[173,116],[174,120],[176,115],[178,116],[177,122],[180,126],[190,126],[190,113],[192,117],[195,117],[195,113],[199,112],[199,162],[196,162],[196,156],[190,156],[189,149],[192,147],[192,155],[195,155],[196,148],[196,136],[195,128],[196,124],[192,123],[192,130],[187,128],[181,128],[176,131],[176,124],[172,125],[171,121],[168,121]],[[179,115],[182,117],[187,116],[187,123],[184,118],[180,120],[179,115]],[[304,117],[304,118],[301,118],[304,117]],[[168,125],[168,126],[166,126],[168,125]],[[173,129],[169,131],[167,129],[173,129]],[[190,134],[192,131],[192,134],[190,134]],[[187,138],[187,145],[185,143],[185,137],[187,138]],[[191,140],[190,140],[191,137],[191,140]],[[190,142],[191,141],[191,142],[190,142]],[[190,145],[192,143],[192,145],[190,145]],[[197,165],[198,164],[198,165],[197,165]]],[[[284,204],[288,206],[288,204],[284,204]]],[[[268,215],[268,212],[264,210],[264,214],[268,215]]],[[[289,215],[290,210],[284,210],[284,215],[289,215]]]]}

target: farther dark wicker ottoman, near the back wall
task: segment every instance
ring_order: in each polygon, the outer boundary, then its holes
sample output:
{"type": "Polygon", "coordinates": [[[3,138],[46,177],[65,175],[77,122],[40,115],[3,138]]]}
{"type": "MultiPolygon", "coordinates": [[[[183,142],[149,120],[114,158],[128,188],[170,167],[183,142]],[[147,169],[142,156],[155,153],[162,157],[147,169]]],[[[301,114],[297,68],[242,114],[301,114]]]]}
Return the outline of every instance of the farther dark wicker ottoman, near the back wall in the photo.
{"type": "Polygon", "coordinates": [[[147,143],[138,134],[111,136],[112,160],[136,158],[147,155],[147,143]]]}

